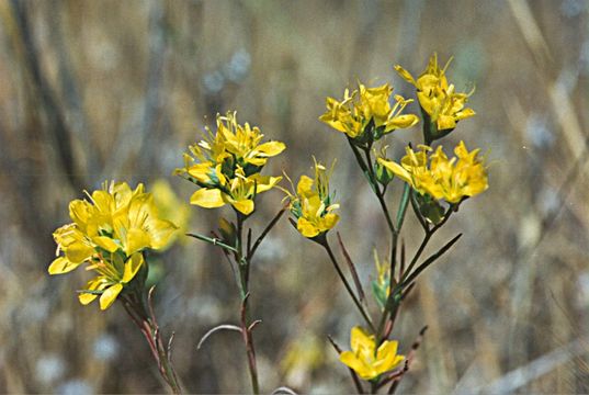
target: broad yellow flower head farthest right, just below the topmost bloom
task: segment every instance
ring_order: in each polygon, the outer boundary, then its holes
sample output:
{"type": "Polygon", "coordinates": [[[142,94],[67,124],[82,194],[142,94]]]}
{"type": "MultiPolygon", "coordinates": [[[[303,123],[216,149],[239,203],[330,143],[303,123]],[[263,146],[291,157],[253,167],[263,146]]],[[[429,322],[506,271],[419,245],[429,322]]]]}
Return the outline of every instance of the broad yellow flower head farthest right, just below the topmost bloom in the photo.
{"type": "Polygon", "coordinates": [[[419,148],[415,153],[407,147],[407,155],[400,165],[382,158],[378,158],[378,162],[419,193],[449,203],[460,203],[464,198],[474,196],[488,188],[487,171],[478,158],[479,149],[468,151],[464,142],[461,142],[454,148],[456,157],[449,159],[441,146],[429,157],[428,153],[432,151],[430,147],[419,148]]]}

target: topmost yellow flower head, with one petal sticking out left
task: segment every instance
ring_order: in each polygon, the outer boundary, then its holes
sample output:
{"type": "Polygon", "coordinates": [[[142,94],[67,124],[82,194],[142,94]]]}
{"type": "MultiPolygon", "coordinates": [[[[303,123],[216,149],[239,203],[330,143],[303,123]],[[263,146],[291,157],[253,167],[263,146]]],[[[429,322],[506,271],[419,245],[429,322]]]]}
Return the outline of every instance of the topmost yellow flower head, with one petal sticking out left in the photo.
{"type": "Polygon", "coordinates": [[[456,93],[454,92],[454,84],[448,83],[445,70],[451,60],[446,63],[443,69],[440,69],[438,54],[433,54],[428,67],[417,80],[399,65],[395,66],[395,70],[417,88],[419,104],[429,115],[430,122],[435,124],[438,131],[451,131],[456,127],[458,121],[475,115],[472,109],[464,108],[473,91],[469,93],[456,93]]]}

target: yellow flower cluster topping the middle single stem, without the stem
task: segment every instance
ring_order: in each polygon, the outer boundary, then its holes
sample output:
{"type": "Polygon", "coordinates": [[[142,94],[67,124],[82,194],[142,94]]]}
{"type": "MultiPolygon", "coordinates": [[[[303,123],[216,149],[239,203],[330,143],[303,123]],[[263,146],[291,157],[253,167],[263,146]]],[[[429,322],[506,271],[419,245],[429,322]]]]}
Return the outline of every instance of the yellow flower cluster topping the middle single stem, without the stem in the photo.
{"type": "Polygon", "coordinates": [[[189,147],[184,167],[175,173],[201,187],[191,204],[214,208],[230,204],[243,215],[254,210],[258,193],[274,188],[282,177],[261,176],[268,158],[282,153],[283,143],[261,143],[263,135],[248,123],[239,125],[235,113],[217,115],[217,131],[189,147]]]}

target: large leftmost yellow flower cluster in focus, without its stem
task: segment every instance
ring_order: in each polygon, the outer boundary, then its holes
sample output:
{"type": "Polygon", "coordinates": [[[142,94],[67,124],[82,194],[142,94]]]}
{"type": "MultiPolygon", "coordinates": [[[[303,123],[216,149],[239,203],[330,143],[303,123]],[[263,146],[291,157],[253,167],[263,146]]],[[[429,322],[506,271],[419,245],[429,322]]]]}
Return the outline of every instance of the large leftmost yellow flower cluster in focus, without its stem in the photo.
{"type": "Polygon", "coordinates": [[[80,302],[88,304],[101,295],[100,307],[105,309],[143,267],[141,251],[166,247],[177,227],[158,216],[143,184],[133,191],[125,182],[111,182],[87,194],[89,201],[69,204],[73,223],[55,230],[57,258],[48,271],[63,274],[88,263],[87,270],[98,276],[88,283],[88,292],[80,293],[80,302]]]}

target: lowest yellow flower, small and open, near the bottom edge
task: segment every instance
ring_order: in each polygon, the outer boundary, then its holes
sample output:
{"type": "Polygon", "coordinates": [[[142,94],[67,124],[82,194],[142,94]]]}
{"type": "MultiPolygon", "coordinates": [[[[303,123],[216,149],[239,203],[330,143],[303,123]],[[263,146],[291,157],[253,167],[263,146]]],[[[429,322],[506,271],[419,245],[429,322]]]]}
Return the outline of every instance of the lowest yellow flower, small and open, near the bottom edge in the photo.
{"type": "Polygon", "coordinates": [[[376,349],[374,336],[360,327],[353,327],[350,345],[352,351],[340,353],[340,361],[363,380],[373,380],[397,368],[405,359],[397,354],[398,342],[385,340],[376,349]]]}

